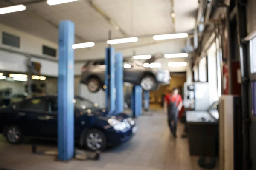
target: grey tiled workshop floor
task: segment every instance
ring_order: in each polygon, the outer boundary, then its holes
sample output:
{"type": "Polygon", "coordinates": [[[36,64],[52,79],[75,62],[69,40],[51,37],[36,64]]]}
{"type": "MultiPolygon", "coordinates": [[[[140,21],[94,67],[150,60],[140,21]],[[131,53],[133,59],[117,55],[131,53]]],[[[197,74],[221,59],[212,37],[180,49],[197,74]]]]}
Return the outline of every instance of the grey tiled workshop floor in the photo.
{"type": "MultiPolygon", "coordinates": [[[[0,136],[0,167],[14,170],[201,170],[197,157],[189,156],[188,141],[173,139],[166,125],[165,114],[140,116],[134,138],[119,147],[102,153],[100,161],[55,161],[51,156],[31,153],[26,144],[10,145],[0,136]]],[[[215,170],[218,170],[216,168],[215,170]]]]}

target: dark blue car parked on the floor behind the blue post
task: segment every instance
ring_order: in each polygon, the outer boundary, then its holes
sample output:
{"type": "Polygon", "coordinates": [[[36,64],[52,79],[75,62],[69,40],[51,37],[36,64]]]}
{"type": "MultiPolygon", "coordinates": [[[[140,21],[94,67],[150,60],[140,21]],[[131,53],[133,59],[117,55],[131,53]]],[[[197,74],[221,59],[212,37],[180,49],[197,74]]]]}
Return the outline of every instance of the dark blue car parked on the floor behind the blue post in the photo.
{"type": "MultiPolygon", "coordinates": [[[[108,116],[96,103],[75,97],[75,140],[90,150],[104,150],[107,145],[127,142],[137,130],[125,113],[108,116]]],[[[57,96],[29,97],[0,108],[0,133],[12,144],[24,136],[57,139],[57,96]]]]}

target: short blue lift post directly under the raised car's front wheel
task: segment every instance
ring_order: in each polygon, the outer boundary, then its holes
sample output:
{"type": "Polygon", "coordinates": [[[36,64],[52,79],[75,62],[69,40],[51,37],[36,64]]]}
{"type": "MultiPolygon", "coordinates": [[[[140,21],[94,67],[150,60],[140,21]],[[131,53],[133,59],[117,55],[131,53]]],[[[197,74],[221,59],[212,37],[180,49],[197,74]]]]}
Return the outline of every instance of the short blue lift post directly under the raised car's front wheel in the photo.
{"type": "Polygon", "coordinates": [[[142,88],[140,85],[134,85],[131,95],[132,114],[138,117],[142,113],[142,88]]]}

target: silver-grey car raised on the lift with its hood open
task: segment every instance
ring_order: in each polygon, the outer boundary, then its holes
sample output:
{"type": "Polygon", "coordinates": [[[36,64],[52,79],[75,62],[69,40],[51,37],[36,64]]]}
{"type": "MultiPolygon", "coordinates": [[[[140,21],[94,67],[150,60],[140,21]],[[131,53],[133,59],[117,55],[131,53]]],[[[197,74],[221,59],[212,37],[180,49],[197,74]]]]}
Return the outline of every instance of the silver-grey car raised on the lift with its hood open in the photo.
{"type": "MultiPolygon", "coordinates": [[[[104,86],[105,61],[88,61],[82,68],[81,83],[86,84],[90,92],[97,92],[104,86]]],[[[162,84],[170,83],[170,73],[166,69],[146,68],[136,60],[124,60],[124,82],[140,85],[144,91],[155,91],[162,84]]]]}

